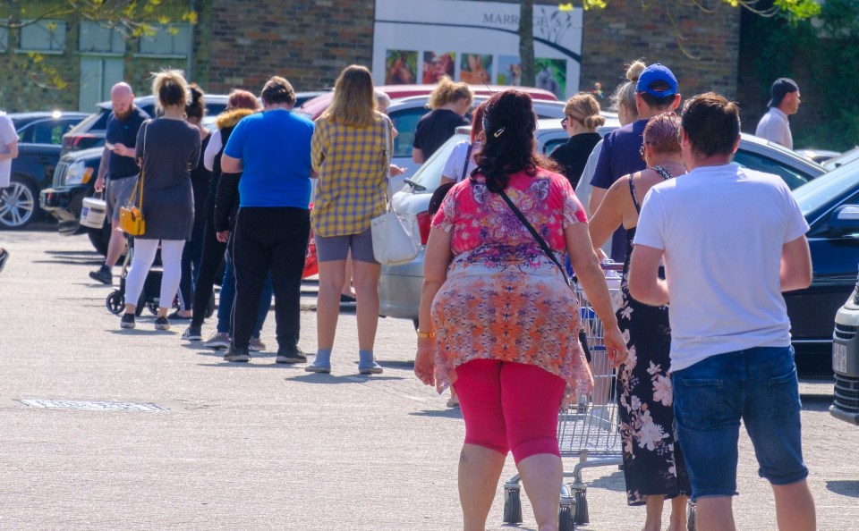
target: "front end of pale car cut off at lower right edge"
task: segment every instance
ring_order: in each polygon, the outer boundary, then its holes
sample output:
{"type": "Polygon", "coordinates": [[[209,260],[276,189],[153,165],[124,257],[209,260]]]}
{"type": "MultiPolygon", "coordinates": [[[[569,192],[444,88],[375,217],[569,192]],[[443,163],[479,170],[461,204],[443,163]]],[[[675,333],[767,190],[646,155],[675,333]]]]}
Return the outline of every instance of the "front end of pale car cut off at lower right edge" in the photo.
{"type": "MultiPolygon", "coordinates": [[[[859,232],[859,219],[853,220],[859,232]]],[[[835,390],[829,414],[859,426],[859,279],[844,306],[835,315],[832,333],[832,372],[835,390]]]]}

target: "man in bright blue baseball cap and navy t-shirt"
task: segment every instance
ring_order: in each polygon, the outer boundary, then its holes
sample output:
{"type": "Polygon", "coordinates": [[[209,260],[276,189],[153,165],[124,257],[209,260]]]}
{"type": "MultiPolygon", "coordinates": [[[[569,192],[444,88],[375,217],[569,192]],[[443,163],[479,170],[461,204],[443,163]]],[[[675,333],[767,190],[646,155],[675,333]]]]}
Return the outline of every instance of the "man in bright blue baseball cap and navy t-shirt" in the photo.
{"type": "MultiPolygon", "coordinates": [[[[635,107],[639,120],[611,131],[602,143],[600,160],[591,179],[591,213],[597,211],[615,181],[629,173],[647,168],[640,151],[644,126],[653,116],[673,111],[680,104],[680,91],[674,73],[653,63],[644,69],[635,85],[635,107]]],[[[640,198],[640,200],[643,198],[640,198]]],[[[611,258],[623,263],[626,257],[626,231],[619,227],[612,236],[611,258]]]]}

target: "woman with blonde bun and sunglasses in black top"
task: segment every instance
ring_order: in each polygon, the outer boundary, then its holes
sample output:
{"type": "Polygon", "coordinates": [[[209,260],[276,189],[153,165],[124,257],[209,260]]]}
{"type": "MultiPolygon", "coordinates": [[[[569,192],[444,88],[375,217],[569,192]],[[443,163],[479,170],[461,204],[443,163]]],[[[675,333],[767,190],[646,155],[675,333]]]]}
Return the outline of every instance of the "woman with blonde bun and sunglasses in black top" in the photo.
{"type": "Polygon", "coordinates": [[[600,114],[600,102],[591,94],[583,92],[567,100],[561,126],[570,139],[552,150],[550,157],[564,168],[566,180],[573,188],[582,177],[593,147],[602,139],[597,128],[605,122],[600,114]]]}

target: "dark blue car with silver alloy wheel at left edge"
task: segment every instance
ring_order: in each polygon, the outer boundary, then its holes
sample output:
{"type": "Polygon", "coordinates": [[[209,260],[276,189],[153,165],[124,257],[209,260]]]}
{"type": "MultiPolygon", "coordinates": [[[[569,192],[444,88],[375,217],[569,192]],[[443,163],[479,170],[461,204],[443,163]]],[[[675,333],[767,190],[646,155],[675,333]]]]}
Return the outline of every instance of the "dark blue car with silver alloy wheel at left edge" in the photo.
{"type": "Polygon", "coordinates": [[[12,180],[0,192],[0,229],[22,229],[38,219],[38,193],[50,185],[63,134],[88,114],[63,111],[9,114],[18,132],[12,180]]]}

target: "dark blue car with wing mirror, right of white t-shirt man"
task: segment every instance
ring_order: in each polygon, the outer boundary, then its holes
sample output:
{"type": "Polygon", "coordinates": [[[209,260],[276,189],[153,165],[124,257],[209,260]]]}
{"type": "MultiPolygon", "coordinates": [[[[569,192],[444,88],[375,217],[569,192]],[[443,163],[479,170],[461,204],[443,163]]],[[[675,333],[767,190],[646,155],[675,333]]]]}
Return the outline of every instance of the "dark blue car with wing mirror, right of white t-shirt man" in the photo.
{"type": "Polygon", "coordinates": [[[802,358],[829,361],[832,321],[853,291],[859,264],[859,163],[843,165],[794,190],[810,225],[814,277],[805,290],[785,293],[791,335],[802,358]]]}

